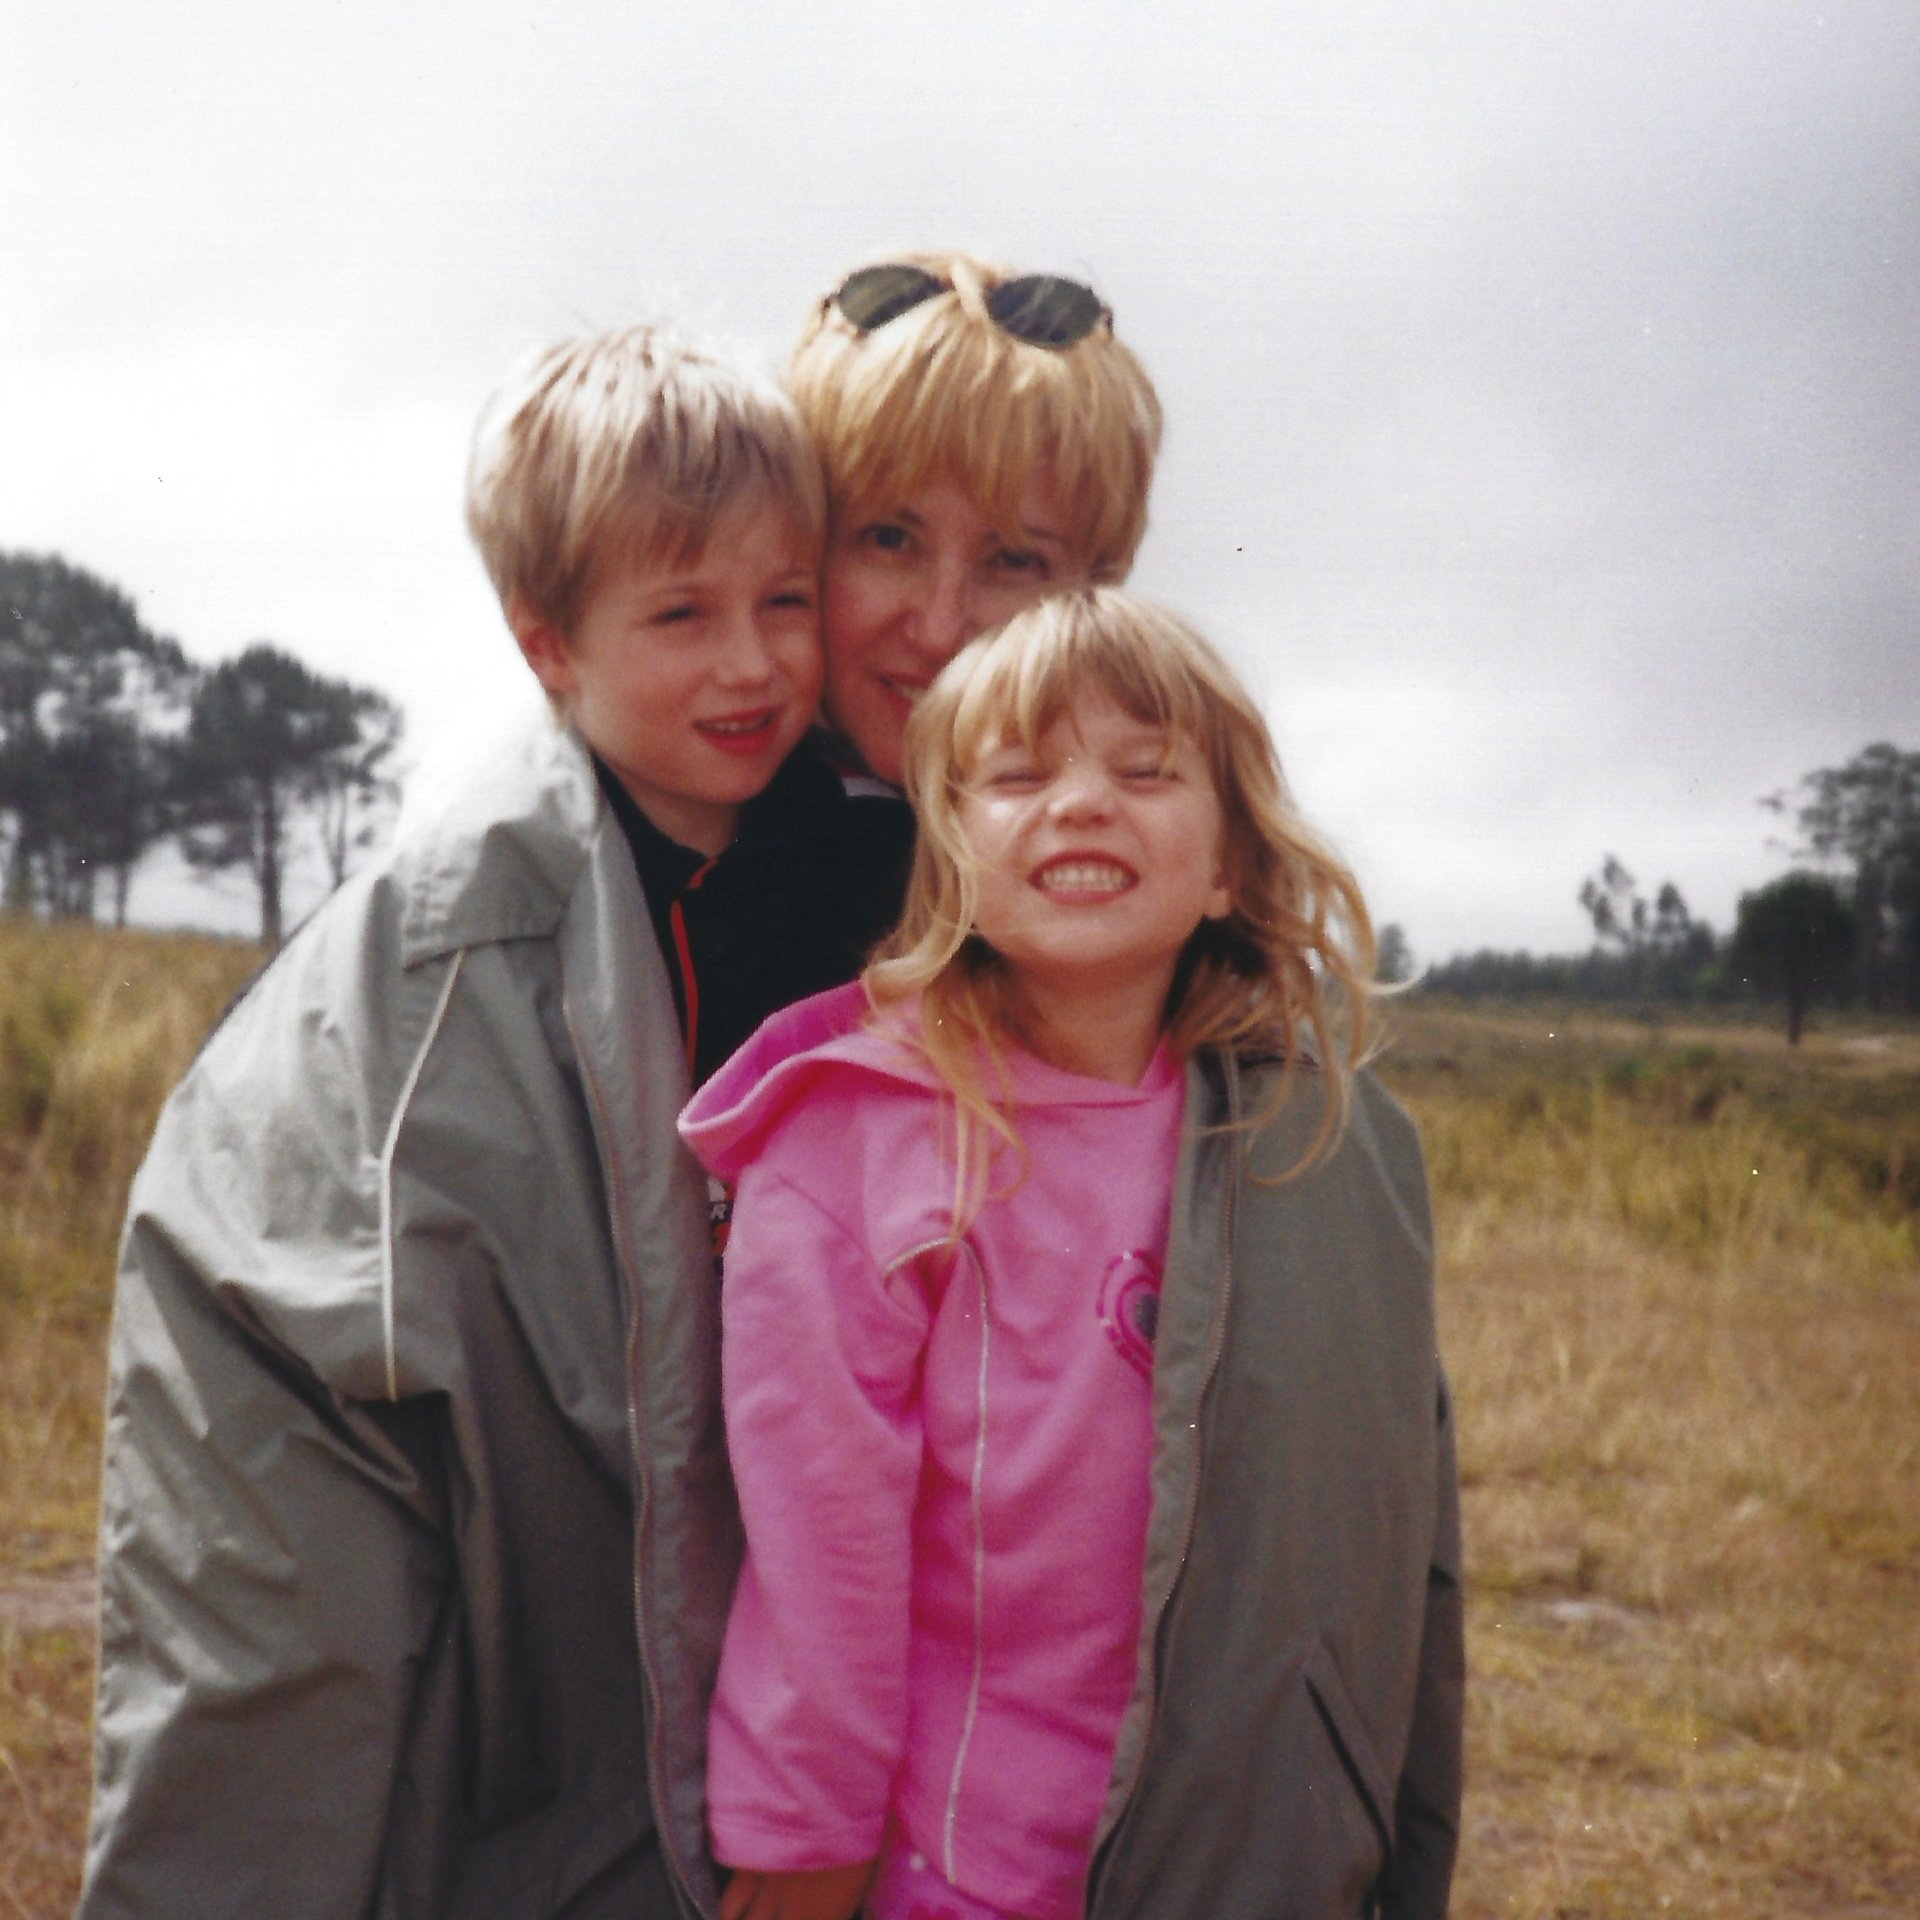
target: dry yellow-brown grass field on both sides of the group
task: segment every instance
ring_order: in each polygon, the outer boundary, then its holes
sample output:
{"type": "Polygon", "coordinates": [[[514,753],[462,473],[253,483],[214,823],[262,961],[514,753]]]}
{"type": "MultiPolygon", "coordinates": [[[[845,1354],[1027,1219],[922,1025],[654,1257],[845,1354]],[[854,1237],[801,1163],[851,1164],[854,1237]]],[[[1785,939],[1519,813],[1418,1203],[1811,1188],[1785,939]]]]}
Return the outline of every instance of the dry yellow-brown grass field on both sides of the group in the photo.
{"type": "MultiPolygon", "coordinates": [[[[0,924],[0,1916],[77,1885],[125,1185],[253,964],[0,924]]],[[[1920,1912],[1920,1035],[1394,1018],[1467,1501],[1455,1912],[1920,1912]]]]}

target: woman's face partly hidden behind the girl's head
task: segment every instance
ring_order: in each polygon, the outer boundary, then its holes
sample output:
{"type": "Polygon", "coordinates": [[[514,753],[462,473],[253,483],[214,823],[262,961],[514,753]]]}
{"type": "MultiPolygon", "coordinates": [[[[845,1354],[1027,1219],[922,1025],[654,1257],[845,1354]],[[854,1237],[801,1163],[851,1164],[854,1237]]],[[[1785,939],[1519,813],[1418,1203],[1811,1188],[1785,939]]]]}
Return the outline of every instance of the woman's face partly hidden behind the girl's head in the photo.
{"type": "Polygon", "coordinates": [[[826,712],[870,772],[899,783],[906,716],[966,641],[1085,578],[1069,524],[1052,476],[1035,472],[1018,545],[950,482],[835,526],[822,599],[826,712]]]}

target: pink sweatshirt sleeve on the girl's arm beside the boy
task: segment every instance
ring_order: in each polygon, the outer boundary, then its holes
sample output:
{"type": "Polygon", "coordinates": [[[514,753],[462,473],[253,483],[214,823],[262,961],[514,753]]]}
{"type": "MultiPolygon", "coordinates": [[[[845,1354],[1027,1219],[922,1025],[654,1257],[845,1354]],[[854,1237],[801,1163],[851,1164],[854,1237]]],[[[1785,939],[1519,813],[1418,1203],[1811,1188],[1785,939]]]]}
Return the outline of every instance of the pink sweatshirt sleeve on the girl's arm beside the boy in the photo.
{"type": "Polygon", "coordinates": [[[762,1872],[870,1860],[906,1741],[927,1300],[751,1165],[722,1321],[747,1561],[710,1718],[714,1855],[762,1872]]]}

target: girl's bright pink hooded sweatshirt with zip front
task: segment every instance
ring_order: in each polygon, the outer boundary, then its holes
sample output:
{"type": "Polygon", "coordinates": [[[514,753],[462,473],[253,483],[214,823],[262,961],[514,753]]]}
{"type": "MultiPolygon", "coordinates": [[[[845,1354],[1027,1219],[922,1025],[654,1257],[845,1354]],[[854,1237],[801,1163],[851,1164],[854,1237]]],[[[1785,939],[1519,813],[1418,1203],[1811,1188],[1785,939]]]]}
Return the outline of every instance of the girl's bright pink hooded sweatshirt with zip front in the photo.
{"type": "Polygon", "coordinates": [[[1018,1054],[1014,1094],[1023,1156],[958,1250],[950,1104],[858,985],[774,1016],[682,1116],[737,1183],[747,1563],[708,1820],[730,1866],[891,1832],[979,1901],[1073,1920],[1133,1688],[1185,1083],[1165,1050],[1139,1087],[1018,1054]]]}

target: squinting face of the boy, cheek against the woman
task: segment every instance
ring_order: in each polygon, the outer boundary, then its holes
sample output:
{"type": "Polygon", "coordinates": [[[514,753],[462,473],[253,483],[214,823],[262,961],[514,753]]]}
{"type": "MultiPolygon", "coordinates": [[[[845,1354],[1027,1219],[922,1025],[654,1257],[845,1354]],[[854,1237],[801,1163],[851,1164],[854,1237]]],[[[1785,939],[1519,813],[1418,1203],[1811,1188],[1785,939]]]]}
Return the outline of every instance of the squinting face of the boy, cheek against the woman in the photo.
{"type": "Polygon", "coordinates": [[[716,854],[820,701],[820,589],[778,511],[724,522],[685,566],[607,566],[572,636],[515,637],[547,695],[670,839],[716,854]]]}

